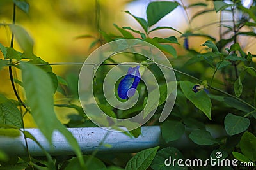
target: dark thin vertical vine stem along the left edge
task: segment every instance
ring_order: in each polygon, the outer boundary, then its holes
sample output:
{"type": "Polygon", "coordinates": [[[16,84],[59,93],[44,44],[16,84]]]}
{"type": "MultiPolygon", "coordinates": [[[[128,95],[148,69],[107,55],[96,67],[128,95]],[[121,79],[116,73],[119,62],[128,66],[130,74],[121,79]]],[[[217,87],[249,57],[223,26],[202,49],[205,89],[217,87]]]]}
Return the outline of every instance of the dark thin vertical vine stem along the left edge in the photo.
{"type": "MultiPolygon", "coordinates": [[[[12,24],[15,24],[15,20],[16,20],[16,5],[15,5],[15,3],[13,3],[12,24]]],[[[13,41],[14,41],[14,32],[12,31],[12,38],[11,38],[11,43],[10,43],[11,48],[13,48],[13,41]]],[[[10,62],[12,62],[12,60],[10,60],[10,62]]],[[[17,89],[15,87],[14,80],[13,80],[12,66],[9,66],[9,76],[10,76],[10,80],[11,80],[11,83],[12,83],[12,89],[14,91],[15,96],[17,97],[19,103],[22,104],[22,106],[24,106],[24,108],[26,108],[26,111],[28,111],[28,108],[26,107],[26,105],[20,99],[19,94],[17,92],[17,89]]],[[[27,141],[27,138],[26,138],[26,135],[25,135],[24,120],[23,120],[23,115],[22,115],[22,109],[21,108],[20,108],[20,115],[21,115],[22,129],[23,129],[23,132],[24,132],[24,140],[25,140],[25,145],[26,145],[26,151],[27,151],[28,157],[29,157],[29,163],[30,163],[32,169],[34,169],[34,166],[32,164],[31,155],[30,155],[30,152],[29,152],[29,149],[28,149],[28,141],[27,141]]]]}

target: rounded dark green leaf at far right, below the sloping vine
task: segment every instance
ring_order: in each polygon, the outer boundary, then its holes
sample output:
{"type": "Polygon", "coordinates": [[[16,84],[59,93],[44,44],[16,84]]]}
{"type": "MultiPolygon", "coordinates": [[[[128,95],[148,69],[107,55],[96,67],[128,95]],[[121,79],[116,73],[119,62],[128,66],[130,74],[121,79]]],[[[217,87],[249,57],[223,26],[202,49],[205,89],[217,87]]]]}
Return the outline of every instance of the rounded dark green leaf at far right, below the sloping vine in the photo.
{"type": "Polygon", "coordinates": [[[235,135],[245,131],[250,125],[250,120],[228,113],[225,117],[224,125],[228,135],[235,135]]]}

